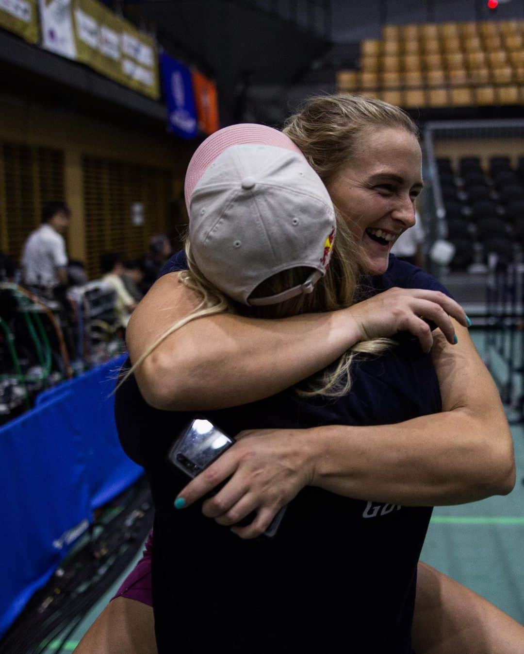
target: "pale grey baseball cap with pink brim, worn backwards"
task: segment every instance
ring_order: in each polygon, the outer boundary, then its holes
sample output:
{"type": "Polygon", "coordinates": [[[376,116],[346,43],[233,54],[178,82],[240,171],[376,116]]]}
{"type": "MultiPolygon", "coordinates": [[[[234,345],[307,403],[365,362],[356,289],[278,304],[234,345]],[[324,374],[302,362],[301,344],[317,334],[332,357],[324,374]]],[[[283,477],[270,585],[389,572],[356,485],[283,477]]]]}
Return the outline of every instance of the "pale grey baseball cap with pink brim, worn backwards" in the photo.
{"type": "Polygon", "coordinates": [[[310,293],[329,266],[335,239],[331,198],[302,152],[263,125],[220,129],[197,148],[186,173],[189,241],[205,277],[246,305],[269,305],[310,293]],[[263,281],[297,266],[303,284],[267,298],[250,295],[263,281]]]}

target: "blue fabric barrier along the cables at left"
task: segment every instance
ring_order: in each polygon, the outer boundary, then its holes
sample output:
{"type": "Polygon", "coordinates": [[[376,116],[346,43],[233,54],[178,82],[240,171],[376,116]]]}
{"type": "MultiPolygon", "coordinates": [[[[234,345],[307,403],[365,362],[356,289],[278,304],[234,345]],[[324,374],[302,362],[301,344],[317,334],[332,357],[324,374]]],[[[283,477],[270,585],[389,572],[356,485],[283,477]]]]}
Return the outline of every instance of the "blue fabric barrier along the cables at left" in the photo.
{"type": "Polygon", "coordinates": [[[113,390],[125,354],[42,392],[0,427],[5,563],[0,637],[90,525],[143,470],[120,447],[113,390]]]}

